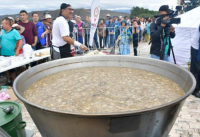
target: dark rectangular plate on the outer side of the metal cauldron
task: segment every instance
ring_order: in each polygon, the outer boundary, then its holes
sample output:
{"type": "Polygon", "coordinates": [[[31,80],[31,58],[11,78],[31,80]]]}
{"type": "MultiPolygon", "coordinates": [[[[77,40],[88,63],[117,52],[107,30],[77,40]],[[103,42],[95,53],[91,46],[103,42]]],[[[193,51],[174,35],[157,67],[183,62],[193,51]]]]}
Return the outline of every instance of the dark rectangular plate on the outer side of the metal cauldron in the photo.
{"type": "Polygon", "coordinates": [[[128,117],[116,117],[110,119],[110,132],[122,133],[138,130],[140,125],[140,115],[128,117]]]}

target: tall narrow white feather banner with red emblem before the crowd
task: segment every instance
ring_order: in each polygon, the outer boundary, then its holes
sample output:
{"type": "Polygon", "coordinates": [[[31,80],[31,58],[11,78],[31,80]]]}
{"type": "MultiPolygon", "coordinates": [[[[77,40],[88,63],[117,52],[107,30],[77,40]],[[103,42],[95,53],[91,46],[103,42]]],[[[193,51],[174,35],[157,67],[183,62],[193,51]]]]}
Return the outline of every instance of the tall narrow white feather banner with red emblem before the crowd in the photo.
{"type": "Polygon", "coordinates": [[[90,46],[92,46],[94,34],[98,26],[99,15],[100,15],[100,0],[93,0],[91,7],[90,46]]]}

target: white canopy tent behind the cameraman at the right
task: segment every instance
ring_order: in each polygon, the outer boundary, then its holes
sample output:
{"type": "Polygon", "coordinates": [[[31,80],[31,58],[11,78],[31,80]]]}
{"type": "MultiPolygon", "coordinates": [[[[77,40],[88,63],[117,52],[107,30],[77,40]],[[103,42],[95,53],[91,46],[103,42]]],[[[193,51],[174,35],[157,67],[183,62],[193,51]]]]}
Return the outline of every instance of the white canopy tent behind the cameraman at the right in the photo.
{"type": "MultiPolygon", "coordinates": [[[[173,25],[175,27],[176,37],[172,39],[172,45],[174,47],[177,64],[182,67],[187,67],[191,56],[191,41],[200,24],[200,7],[188,11],[177,18],[181,18],[181,24],[173,25]]],[[[172,54],[171,62],[174,63],[172,54]]]]}

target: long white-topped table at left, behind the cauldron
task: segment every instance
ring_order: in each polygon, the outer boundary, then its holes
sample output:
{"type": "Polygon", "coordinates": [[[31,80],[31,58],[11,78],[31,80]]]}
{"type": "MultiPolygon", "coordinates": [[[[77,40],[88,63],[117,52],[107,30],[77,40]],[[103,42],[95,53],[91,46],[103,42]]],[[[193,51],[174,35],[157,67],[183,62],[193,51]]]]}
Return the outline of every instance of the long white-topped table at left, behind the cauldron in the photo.
{"type": "MultiPolygon", "coordinates": [[[[33,55],[35,55],[35,53],[40,53],[40,52],[50,52],[50,48],[45,48],[45,49],[34,51],[33,55]]],[[[22,55],[20,55],[20,56],[22,57],[22,55]]],[[[35,61],[39,61],[39,60],[42,60],[42,59],[45,59],[45,58],[49,58],[49,57],[50,57],[50,55],[46,55],[46,56],[42,56],[42,57],[33,56],[31,59],[19,60],[19,61],[11,63],[10,66],[0,67],[0,73],[8,71],[8,70],[11,70],[11,69],[14,69],[14,68],[17,68],[17,67],[21,67],[21,66],[27,65],[27,64],[29,64],[31,62],[35,62],[35,61]]]]}

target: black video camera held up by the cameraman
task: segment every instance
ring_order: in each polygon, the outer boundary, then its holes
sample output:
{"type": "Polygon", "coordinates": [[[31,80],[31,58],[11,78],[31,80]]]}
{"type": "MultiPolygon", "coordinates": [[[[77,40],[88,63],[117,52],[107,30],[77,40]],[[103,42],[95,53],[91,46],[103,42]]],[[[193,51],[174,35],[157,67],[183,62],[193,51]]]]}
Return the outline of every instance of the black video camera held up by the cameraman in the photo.
{"type": "Polygon", "coordinates": [[[176,6],[176,11],[169,10],[168,14],[165,15],[155,15],[155,18],[157,19],[157,24],[166,24],[166,25],[171,25],[171,24],[180,24],[181,23],[181,18],[174,18],[178,16],[178,12],[182,10],[182,6],[176,6]],[[168,20],[164,20],[166,16],[169,16],[168,20]]]}

